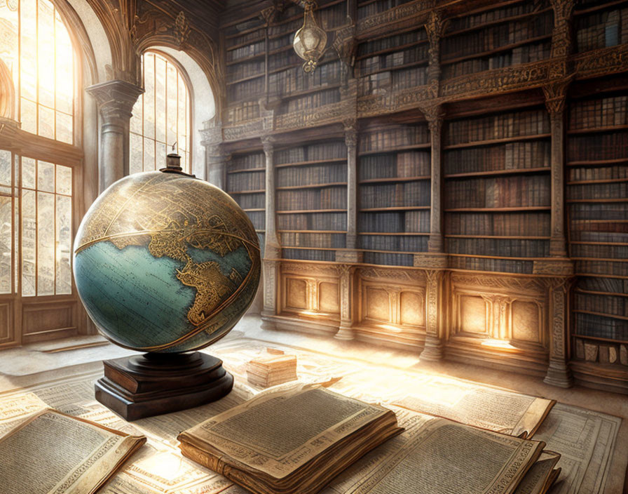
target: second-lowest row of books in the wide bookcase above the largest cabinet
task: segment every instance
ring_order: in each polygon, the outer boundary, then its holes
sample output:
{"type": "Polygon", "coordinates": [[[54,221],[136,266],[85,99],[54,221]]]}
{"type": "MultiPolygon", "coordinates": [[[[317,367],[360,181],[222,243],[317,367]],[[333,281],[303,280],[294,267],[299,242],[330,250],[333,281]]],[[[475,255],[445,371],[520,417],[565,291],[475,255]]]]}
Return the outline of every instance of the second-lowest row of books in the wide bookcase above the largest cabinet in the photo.
{"type": "Polygon", "coordinates": [[[549,241],[524,239],[445,239],[446,252],[499,255],[512,258],[546,258],[549,241]]]}

